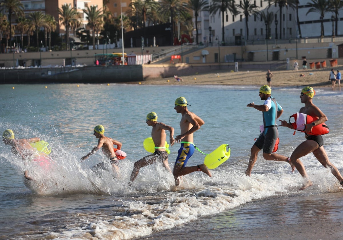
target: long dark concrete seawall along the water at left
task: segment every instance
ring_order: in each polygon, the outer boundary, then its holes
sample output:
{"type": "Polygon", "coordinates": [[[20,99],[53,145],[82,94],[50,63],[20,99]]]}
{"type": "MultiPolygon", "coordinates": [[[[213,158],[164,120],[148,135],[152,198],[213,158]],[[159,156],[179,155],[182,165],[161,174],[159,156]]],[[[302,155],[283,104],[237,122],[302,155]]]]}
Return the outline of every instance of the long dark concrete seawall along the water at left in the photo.
{"type": "Polygon", "coordinates": [[[0,84],[122,83],[143,81],[142,65],[0,70],[0,84]]]}

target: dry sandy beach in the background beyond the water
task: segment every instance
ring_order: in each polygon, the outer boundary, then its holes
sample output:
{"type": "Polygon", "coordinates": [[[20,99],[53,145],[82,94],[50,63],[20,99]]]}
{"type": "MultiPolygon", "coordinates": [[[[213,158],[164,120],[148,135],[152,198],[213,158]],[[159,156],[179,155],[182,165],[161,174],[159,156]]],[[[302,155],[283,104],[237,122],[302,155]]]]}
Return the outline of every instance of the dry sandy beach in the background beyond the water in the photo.
{"type": "MultiPolygon", "coordinates": [[[[342,69],[342,65],[333,67],[333,69],[342,69]]],[[[195,74],[188,76],[179,76],[183,82],[178,82],[174,77],[159,79],[149,79],[141,84],[152,85],[264,85],[267,84],[265,73],[263,71],[249,71],[248,69],[239,72],[216,71],[204,74],[195,74]]],[[[272,70],[271,87],[282,86],[324,86],[331,87],[329,73],[331,67],[323,69],[299,69],[295,70],[272,70]]],[[[132,82],[139,84],[139,82],[132,82]]],[[[338,84],[337,84],[338,86],[338,84]]]]}

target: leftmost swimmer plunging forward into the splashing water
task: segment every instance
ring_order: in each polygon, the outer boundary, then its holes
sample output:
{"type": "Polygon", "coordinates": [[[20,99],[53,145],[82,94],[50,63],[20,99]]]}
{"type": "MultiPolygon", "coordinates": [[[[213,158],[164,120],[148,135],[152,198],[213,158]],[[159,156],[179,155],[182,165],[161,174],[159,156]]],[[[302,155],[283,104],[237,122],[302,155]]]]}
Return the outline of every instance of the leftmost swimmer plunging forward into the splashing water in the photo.
{"type": "MultiPolygon", "coordinates": [[[[51,160],[46,154],[39,153],[36,148],[32,147],[30,143],[39,142],[39,137],[32,137],[30,139],[15,139],[14,133],[11,129],[7,129],[2,133],[2,141],[5,145],[11,146],[11,152],[18,157],[21,157],[26,164],[26,161],[36,161],[41,167],[48,167],[51,160]]],[[[27,170],[24,170],[24,178],[32,181],[32,176],[29,176],[27,170]]]]}

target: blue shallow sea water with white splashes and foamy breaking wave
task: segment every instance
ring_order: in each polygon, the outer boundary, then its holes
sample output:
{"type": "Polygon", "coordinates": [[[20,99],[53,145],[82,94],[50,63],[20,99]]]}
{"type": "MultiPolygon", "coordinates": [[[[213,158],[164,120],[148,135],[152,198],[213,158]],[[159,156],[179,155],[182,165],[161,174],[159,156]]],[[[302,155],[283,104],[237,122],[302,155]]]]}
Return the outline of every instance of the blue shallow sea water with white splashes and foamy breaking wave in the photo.
{"type": "MultiPolygon", "coordinates": [[[[332,89],[315,89],[314,103],[329,118],[325,148],[342,172],[343,95],[332,89]]],[[[303,106],[300,91],[273,89],[272,96],[284,109],[281,119],[288,120],[303,106]]],[[[44,172],[24,165],[10,153],[9,146],[0,144],[1,239],[248,239],[254,236],[253,229],[265,232],[296,220],[306,224],[313,216],[341,222],[336,204],[341,187],[313,155],[302,159],[314,182],[303,192],[297,191],[302,184],[298,172],[292,173],[288,164],[263,160],[262,154],[252,176],[244,176],[250,148],[263,123],[261,112],[246,107],[251,102],[263,104],[258,87],[0,85],[0,96],[0,130],[12,129],[17,138],[46,140],[55,161],[54,168],[44,172]],[[177,189],[161,164],[142,168],[133,187],[128,187],[134,162],[148,154],[142,144],[151,134],[146,114],[155,111],[158,120],[174,127],[178,135],[181,115],[174,110],[174,101],[179,96],[186,97],[189,109],[205,121],[194,134],[194,143],[205,153],[227,143],[231,157],[212,170],[212,178],[194,172],[184,176],[177,189]],[[104,125],[106,136],[122,142],[122,150],[128,154],[120,161],[121,173],[115,178],[110,171],[90,169],[105,160],[100,151],[80,162],[97,143],[93,128],[98,124],[104,125]],[[35,178],[32,191],[23,183],[25,168],[35,178]],[[295,203],[287,201],[294,197],[295,203]],[[332,208],[325,199],[330,199],[332,208]],[[328,209],[316,211],[316,204],[328,209]],[[197,231],[184,235],[184,228],[197,231]],[[239,231],[245,233],[239,235],[239,231]]],[[[283,127],[279,135],[278,153],[286,156],[304,141],[303,133],[293,135],[283,127]]],[[[178,148],[179,144],[170,147],[171,167],[178,148]]],[[[204,155],[195,152],[188,166],[203,160],[204,155]]]]}

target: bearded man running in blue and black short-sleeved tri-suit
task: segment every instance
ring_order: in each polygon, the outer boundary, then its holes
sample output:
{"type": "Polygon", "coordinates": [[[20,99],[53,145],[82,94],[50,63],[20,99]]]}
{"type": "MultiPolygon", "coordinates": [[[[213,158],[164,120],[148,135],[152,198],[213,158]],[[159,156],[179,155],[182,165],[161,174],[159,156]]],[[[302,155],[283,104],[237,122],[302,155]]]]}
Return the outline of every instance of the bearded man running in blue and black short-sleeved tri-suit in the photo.
{"type": "Polygon", "coordinates": [[[249,177],[251,175],[251,170],[257,161],[258,152],[262,148],[263,158],[265,160],[284,161],[291,164],[292,172],[295,169],[288,157],[273,153],[276,140],[279,137],[276,119],[282,115],[283,109],[275,98],[271,96],[271,92],[272,89],[268,85],[263,85],[259,92],[259,97],[264,101],[263,105],[255,105],[254,103],[249,103],[247,105],[247,107],[255,108],[263,113],[263,131],[261,131],[260,136],[250,149],[248,168],[245,171],[245,175],[249,177]]]}

